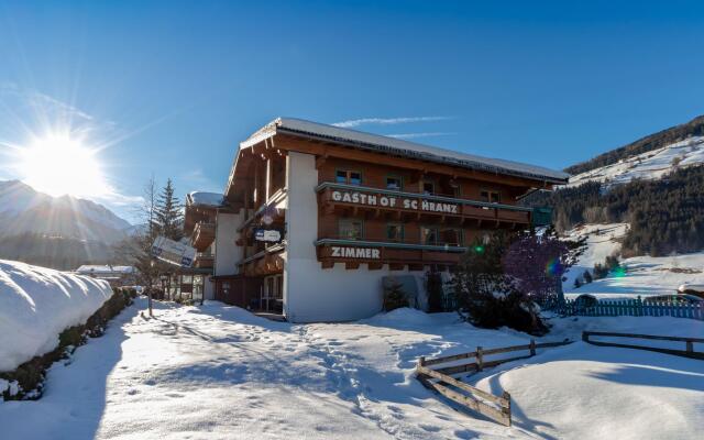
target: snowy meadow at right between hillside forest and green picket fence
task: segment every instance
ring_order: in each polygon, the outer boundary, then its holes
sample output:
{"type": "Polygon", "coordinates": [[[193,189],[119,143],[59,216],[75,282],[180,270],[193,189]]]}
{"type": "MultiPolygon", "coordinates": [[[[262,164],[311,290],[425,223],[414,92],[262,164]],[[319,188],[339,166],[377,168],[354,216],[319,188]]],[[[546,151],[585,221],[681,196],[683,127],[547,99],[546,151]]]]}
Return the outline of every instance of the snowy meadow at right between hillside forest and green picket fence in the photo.
{"type": "Polygon", "coordinates": [[[574,278],[585,270],[593,272],[595,263],[620,250],[619,240],[627,231],[627,223],[584,224],[568,233],[571,238],[587,237],[587,248],[578,264],[565,274],[562,284],[565,297],[575,298],[590,294],[597,298],[623,298],[674,294],[684,283],[704,284],[704,252],[673,256],[635,256],[622,260],[626,266],[623,277],[613,275],[595,279],[591,284],[574,287],[574,278]]]}

